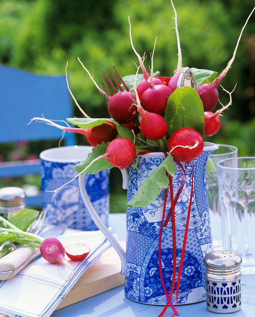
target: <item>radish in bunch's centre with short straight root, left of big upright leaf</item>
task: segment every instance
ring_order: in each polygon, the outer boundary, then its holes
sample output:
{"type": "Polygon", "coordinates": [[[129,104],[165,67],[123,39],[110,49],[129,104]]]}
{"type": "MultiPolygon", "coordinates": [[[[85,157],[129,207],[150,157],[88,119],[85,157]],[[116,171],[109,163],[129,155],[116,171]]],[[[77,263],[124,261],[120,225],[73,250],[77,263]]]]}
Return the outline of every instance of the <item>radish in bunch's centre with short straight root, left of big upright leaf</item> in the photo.
{"type": "Polygon", "coordinates": [[[141,104],[143,105],[143,109],[148,112],[164,115],[166,106],[167,106],[167,101],[170,95],[173,93],[173,91],[166,85],[155,86],[153,83],[153,56],[154,56],[156,40],[155,40],[153,52],[151,55],[150,88],[145,90],[145,92],[143,93],[141,98],[141,104]]]}

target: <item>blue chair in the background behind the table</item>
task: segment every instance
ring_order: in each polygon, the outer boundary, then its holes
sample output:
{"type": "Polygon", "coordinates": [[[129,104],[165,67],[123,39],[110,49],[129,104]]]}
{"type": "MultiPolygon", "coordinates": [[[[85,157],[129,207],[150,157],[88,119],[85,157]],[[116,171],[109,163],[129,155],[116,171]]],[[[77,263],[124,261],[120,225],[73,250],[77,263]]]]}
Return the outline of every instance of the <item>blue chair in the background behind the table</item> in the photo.
{"type": "MultiPolygon", "coordinates": [[[[53,140],[61,131],[31,118],[65,120],[72,117],[72,104],[65,76],[44,76],[0,65],[0,144],[20,140],[53,140]]],[[[65,145],[75,145],[73,133],[65,133],[65,145]]],[[[2,145],[3,146],[3,145],[2,145]]],[[[0,164],[0,178],[39,174],[40,160],[0,164]]],[[[40,206],[41,194],[27,198],[28,206],[40,206]]]]}

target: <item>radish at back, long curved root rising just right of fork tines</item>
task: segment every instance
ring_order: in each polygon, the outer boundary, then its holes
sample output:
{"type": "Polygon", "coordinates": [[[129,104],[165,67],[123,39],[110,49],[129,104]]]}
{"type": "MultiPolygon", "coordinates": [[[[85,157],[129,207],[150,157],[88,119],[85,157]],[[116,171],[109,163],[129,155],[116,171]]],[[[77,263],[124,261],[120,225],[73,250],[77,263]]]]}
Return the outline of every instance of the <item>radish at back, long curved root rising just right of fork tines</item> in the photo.
{"type": "MultiPolygon", "coordinates": [[[[142,57],[137,53],[136,49],[134,48],[132,36],[131,36],[130,17],[128,17],[128,23],[129,23],[129,36],[130,36],[131,47],[132,47],[133,51],[135,52],[135,54],[137,55],[139,63],[140,63],[140,67],[143,71],[144,79],[137,86],[137,93],[138,93],[139,99],[141,99],[145,90],[147,90],[151,86],[151,78],[149,77],[149,75],[144,67],[142,57]]],[[[161,81],[159,78],[154,77],[152,80],[153,80],[154,85],[163,85],[164,84],[163,81],[161,81]]]]}

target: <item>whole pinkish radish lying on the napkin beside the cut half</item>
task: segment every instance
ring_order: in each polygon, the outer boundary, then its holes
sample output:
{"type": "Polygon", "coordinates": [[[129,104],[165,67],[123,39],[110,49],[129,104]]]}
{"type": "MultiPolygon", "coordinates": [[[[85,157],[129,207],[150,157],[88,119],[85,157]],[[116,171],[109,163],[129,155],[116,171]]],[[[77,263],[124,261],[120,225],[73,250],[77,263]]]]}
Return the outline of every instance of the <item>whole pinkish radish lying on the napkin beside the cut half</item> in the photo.
{"type": "Polygon", "coordinates": [[[50,263],[56,263],[56,265],[58,265],[58,263],[62,263],[63,265],[67,266],[68,268],[71,269],[72,273],[71,276],[68,279],[65,279],[61,273],[61,277],[66,280],[66,281],[70,281],[73,278],[73,267],[72,265],[67,262],[67,260],[65,259],[65,249],[62,245],[62,243],[55,238],[47,238],[45,239],[40,246],[40,252],[42,257],[50,262],[50,263]]]}

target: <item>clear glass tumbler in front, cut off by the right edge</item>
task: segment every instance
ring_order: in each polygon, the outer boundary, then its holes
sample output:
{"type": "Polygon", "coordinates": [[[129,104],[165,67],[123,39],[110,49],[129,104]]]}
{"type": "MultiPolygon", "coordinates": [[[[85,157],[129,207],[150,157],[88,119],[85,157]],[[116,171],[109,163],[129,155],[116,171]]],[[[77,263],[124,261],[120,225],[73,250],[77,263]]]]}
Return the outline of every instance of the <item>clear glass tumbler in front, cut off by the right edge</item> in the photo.
{"type": "Polygon", "coordinates": [[[242,273],[255,273],[255,157],[217,163],[224,249],[243,258],[242,273]]]}

